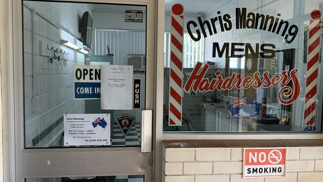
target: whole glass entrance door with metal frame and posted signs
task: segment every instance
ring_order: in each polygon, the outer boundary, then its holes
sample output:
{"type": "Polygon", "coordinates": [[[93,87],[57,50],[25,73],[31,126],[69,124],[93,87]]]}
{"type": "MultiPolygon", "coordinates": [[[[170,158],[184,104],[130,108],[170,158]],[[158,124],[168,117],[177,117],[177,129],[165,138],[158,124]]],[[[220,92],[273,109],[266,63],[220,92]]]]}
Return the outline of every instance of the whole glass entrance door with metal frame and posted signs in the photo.
{"type": "Polygon", "coordinates": [[[15,180],[151,181],[153,1],[13,7],[15,180]]]}

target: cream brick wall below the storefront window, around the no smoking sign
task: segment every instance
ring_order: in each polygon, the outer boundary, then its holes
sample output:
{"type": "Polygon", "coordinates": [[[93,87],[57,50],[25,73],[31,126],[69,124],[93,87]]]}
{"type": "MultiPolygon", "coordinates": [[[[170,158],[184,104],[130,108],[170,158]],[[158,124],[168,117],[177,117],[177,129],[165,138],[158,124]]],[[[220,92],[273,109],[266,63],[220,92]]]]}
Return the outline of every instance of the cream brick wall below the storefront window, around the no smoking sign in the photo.
{"type": "Polygon", "coordinates": [[[243,148],[163,148],[163,182],[322,182],[323,146],[286,147],[286,177],[242,179],[243,148]]]}

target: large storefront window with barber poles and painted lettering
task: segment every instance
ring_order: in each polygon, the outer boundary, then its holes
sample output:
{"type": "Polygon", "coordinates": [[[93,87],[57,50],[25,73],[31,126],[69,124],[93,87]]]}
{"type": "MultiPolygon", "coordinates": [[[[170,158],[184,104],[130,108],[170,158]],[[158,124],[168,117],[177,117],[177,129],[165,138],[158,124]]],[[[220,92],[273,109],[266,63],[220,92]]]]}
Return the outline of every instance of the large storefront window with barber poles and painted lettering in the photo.
{"type": "Polygon", "coordinates": [[[177,3],[165,1],[164,132],[322,131],[323,0],[177,3]]]}

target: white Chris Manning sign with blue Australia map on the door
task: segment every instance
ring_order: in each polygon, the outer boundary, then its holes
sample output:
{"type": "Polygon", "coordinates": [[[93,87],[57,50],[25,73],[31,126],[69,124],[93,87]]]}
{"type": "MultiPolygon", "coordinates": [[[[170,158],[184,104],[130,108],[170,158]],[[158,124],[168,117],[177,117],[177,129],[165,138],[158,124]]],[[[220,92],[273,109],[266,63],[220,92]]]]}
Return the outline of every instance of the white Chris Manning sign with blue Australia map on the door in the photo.
{"type": "Polygon", "coordinates": [[[111,145],[110,114],[64,114],[64,146],[111,145]]]}

